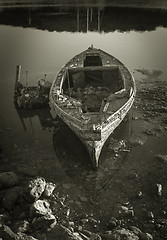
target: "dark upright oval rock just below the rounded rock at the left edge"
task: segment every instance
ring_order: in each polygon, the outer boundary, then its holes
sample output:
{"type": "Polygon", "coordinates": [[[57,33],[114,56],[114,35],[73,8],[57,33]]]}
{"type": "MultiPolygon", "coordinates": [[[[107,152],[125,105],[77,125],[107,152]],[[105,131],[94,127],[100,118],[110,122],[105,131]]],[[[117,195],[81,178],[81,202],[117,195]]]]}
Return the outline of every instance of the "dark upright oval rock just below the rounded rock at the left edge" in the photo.
{"type": "Polygon", "coordinates": [[[2,201],[3,207],[6,210],[10,211],[16,204],[19,198],[19,195],[20,195],[20,187],[14,187],[14,188],[8,189],[2,201]]]}

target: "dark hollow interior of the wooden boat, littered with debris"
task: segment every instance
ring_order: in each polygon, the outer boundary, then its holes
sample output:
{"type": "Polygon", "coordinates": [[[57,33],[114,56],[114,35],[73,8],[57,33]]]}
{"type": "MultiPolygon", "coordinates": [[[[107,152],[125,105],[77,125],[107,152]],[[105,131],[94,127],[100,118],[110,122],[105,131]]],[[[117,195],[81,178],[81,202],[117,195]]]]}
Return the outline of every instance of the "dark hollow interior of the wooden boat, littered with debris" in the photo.
{"type": "Polygon", "coordinates": [[[84,67],[69,68],[62,85],[63,94],[80,101],[84,113],[99,112],[123,89],[125,81],[120,68],[102,66],[98,56],[86,57],[84,67]]]}

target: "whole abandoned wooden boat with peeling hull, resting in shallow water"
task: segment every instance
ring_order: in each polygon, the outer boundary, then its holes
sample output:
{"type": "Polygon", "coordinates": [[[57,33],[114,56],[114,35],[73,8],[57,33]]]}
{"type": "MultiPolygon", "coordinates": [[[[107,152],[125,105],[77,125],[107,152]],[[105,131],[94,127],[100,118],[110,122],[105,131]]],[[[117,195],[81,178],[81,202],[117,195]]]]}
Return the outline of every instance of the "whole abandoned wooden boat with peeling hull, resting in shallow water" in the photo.
{"type": "Polygon", "coordinates": [[[110,54],[90,47],[62,67],[50,90],[50,107],[85,144],[98,167],[102,147],[131,108],[136,93],[130,71],[110,54]]]}

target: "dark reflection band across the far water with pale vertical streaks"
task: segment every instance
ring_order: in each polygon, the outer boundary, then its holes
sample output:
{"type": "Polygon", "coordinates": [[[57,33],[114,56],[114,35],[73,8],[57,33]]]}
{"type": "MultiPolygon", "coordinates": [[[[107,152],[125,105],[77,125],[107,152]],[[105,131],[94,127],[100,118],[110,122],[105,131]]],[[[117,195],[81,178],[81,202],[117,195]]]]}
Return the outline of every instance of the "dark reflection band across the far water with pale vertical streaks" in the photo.
{"type": "Polygon", "coordinates": [[[158,26],[167,27],[166,23],[165,9],[62,5],[4,8],[0,12],[0,24],[57,32],[151,31],[158,26]]]}

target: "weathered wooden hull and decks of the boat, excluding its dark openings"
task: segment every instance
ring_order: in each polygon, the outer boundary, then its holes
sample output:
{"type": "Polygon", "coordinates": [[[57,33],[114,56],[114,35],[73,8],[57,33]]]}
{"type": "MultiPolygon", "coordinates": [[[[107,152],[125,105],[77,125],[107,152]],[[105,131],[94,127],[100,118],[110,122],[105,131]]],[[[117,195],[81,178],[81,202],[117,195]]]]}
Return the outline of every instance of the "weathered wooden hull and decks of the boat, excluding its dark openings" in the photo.
{"type": "MultiPolygon", "coordinates": [[[[123,90],[124,90],[123,89],[123,90]]],[[[135,81],[130,71],[116,58],[100,49],[88,48],[86,51],[72,58],[59,72],[55,78],[50,91],[50,106],[53,112],[76,133],[86,146],[92,164],[98,167],[99,157],[104,143],[114,129],[121,123],[131,108],[136,93],[135,81]],[[103,66],[83,67],[86,54],[99,54],[103,66]],[[126,96],[122,99],[117,108],[100,108],[97,113],[83,113],[80,104],[70,96],[63,94],[63,82],[67,70],[69,72],[78,71],[108,71],[110,69],[120,69],[124,82],[126,96]],[[111,109],[114,111],[111,112],[111,109]]],[[[110,99],[109,105],[112,104],[110,99]]]]}

